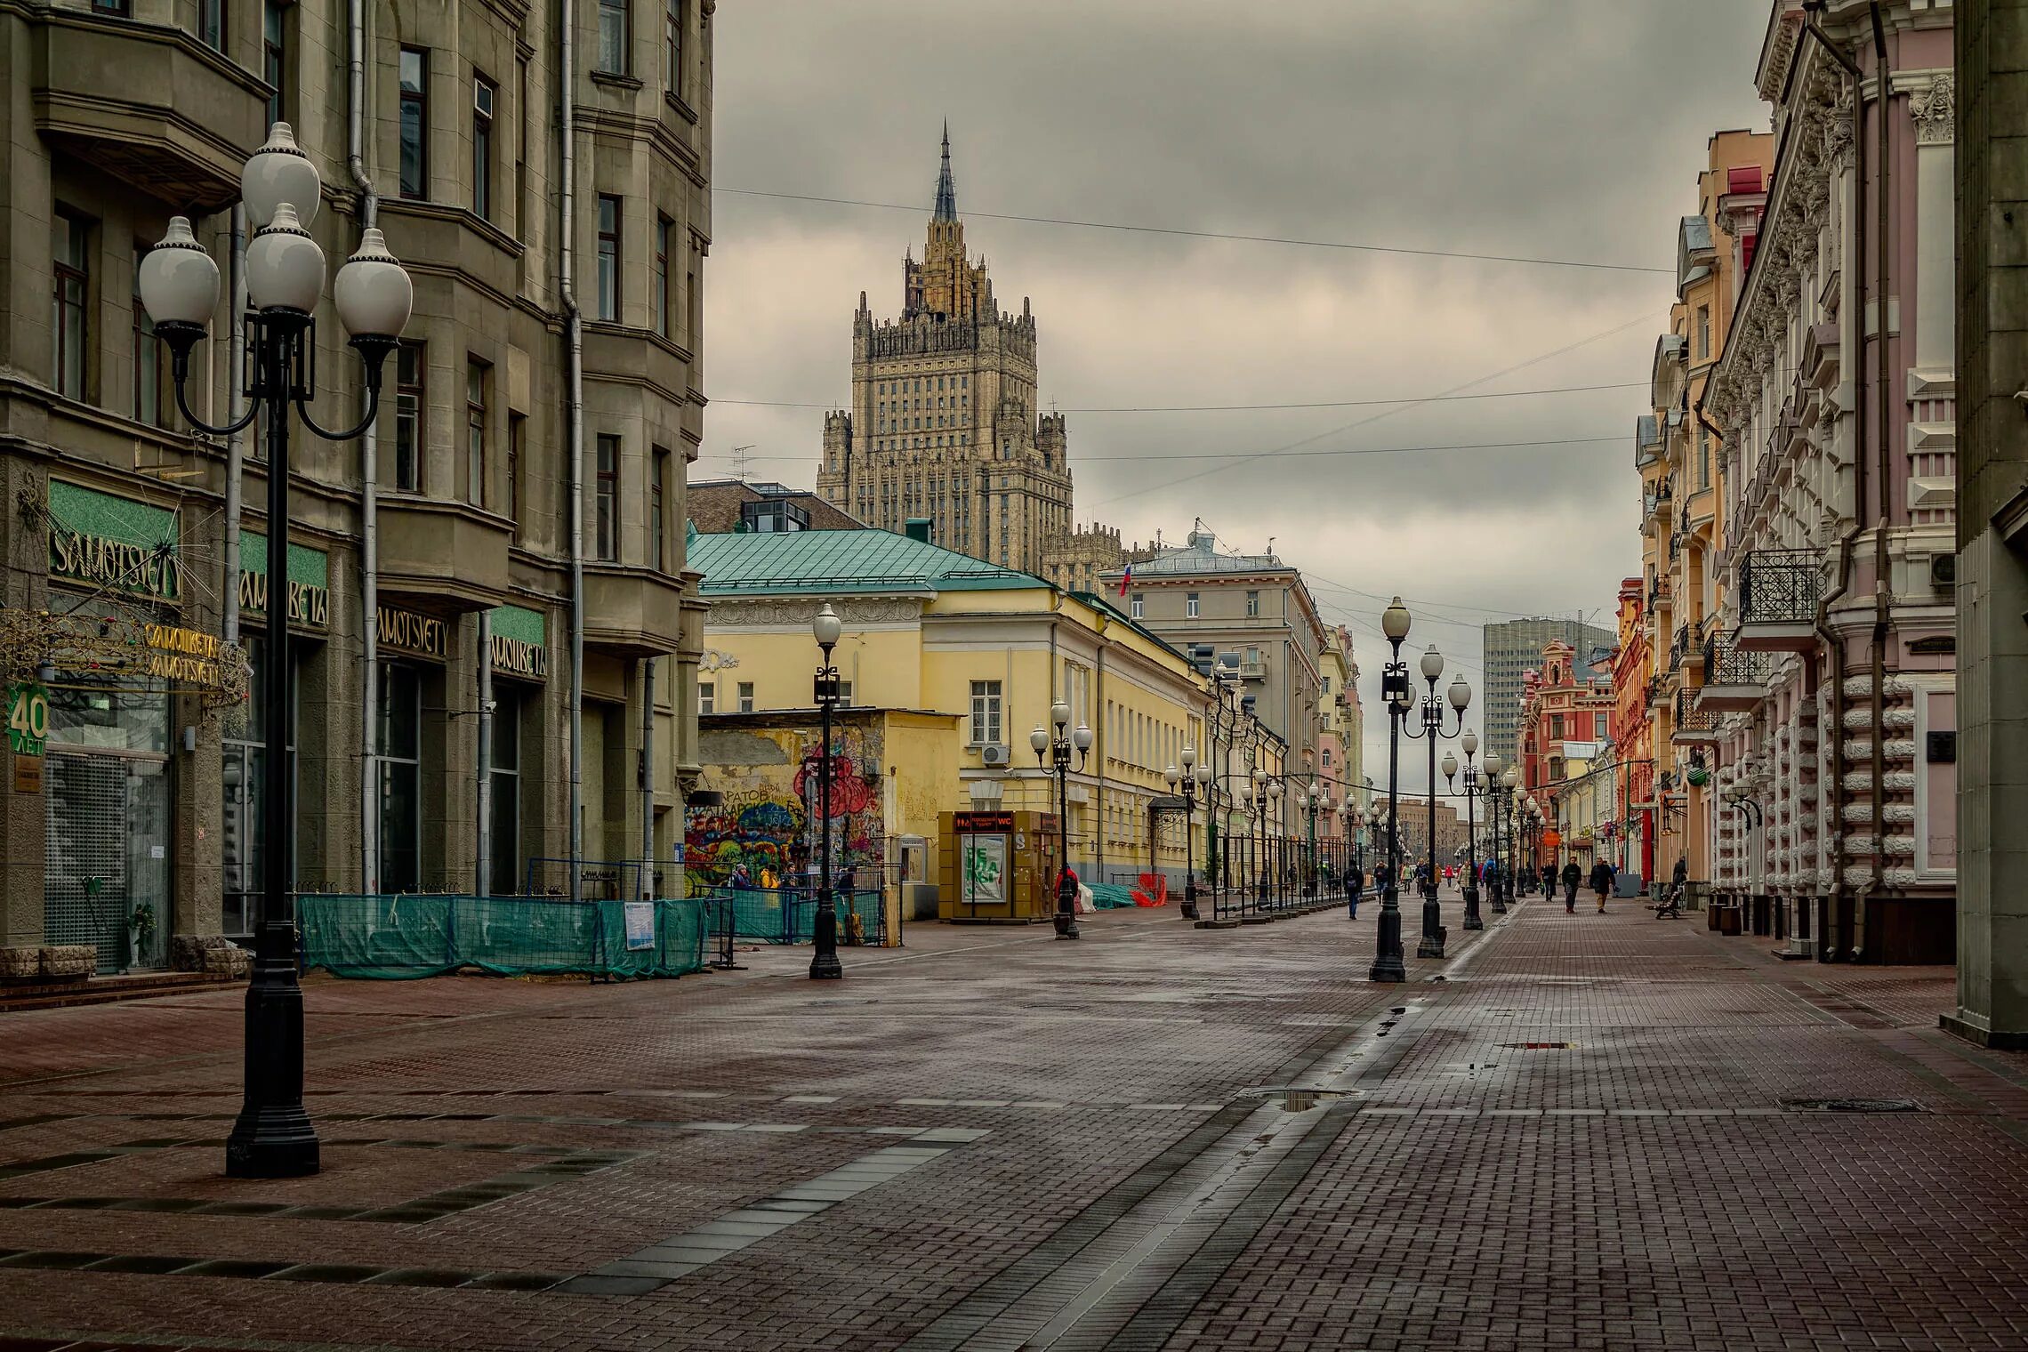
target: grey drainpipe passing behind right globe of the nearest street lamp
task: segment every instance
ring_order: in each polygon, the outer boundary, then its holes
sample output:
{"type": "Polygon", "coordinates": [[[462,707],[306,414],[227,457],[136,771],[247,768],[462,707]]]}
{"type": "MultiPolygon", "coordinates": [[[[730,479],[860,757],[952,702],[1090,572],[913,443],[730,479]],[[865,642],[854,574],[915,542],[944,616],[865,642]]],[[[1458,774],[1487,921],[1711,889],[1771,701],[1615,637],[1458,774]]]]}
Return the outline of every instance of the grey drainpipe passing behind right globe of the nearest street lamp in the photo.
{"type": "MultiPolygon", "coordinates": [[[[359,229],[379,219],[379,193],[365,160],[367,107],[367,16],[365,0],[347,0],[347,85],[345,168],[359,189],[359,229]]],[[[243,306],[235,306],[235,312],[243,306]]],[[[237,316],[237,314],[235,314],[237,316]]],[[[375,424],[359,434],[359,890],[379,890],[379,432],[375,424]]],[[[274,529],[270,525],[268,529],[274,529]]],[[[286,594],[284,580],[284,622],[286,594]]],[[[268,612],[274,614],[276,580],[268,580],[268,612]]],[[[272,626],[274,620],[270,618],[272,626]]]]}

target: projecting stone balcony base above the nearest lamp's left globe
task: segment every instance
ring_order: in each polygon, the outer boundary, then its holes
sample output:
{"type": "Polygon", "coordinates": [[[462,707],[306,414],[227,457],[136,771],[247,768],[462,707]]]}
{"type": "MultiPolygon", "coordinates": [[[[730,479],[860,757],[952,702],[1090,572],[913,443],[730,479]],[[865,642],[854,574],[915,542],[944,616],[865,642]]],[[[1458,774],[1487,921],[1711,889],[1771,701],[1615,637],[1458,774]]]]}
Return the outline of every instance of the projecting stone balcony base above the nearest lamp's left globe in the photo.
{"type": "Polygon", "coordinates": [[[166,207],[239,199],[268,134],[268,85],[174,28],[43,10],[24,61],[34,128],[166,207]]]}

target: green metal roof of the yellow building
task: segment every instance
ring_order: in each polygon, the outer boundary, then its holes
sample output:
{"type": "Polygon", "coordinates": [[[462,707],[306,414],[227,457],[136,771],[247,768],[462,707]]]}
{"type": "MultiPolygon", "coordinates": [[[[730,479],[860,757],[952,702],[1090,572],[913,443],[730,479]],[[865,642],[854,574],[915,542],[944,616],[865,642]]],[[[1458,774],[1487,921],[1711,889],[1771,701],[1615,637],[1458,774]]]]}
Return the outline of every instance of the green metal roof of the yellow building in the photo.
{"type": "Polygon", "coordinates": [[[982,564],[955,549],[892,531],[752,531],[690,541],[690,568],[704,574],[704,596],[748,592],[1000,592],[1046,588],[1040,578],[982,564]]]}

